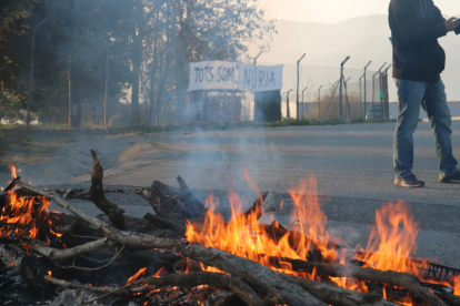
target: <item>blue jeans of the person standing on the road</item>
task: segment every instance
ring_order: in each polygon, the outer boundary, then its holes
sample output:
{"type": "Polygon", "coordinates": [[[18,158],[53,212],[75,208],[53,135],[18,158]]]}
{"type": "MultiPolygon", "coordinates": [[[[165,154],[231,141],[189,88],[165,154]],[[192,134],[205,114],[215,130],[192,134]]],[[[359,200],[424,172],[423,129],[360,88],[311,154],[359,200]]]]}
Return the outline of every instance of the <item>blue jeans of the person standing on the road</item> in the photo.
{"type": "Polygon", "coordinates": [[[452,123],[447,105],[446,88],[442,81],[434,83],[394,79],[398,86],[399,115],[394,133],[393,166],[398,177],[412,175],[413,139],[419,123],[420,105],[428,114],[434,133],[436,154],[439,159],[441,176],[450,176],[457,170],[452,155],[450,136],[452,123]]]}

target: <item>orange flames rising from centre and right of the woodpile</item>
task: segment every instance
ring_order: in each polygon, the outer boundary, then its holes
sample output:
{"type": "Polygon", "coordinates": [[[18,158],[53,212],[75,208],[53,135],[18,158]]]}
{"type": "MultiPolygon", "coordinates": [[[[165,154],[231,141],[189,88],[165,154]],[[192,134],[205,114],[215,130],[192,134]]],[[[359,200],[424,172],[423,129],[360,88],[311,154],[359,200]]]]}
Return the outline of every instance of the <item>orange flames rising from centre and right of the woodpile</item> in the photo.
{"type": "MultiPolygon", "coordinates": [[[[256,184],[250,180],[244,170],[248,183],[252,188],[256,184]]],[[[224,223],[222,215],[209,210],[204,223],[197,224],[189,222],[187,225],[187,239],[207,247],[214,247],[221,251],[259,262],[274,271],[293,274],[299,277],[314,279],[316,272],[312,274],[298,273],[291,269],[289,263],[273,266],[269,258],[288,257],[292,259],[307,261],[309,252],[316,249],[320,252],[320,259],[327,263],[346,264],[343,258],[339,258],[336,249],[328,247],[332,237],[326,231],[327,216],[321,210],[317,196],[317,180],[313,175],[308,181],[289,191],[293,200],[294,211],[290,218],[290,224],[294,227],[293,232],[287,232],[281,238],[273,237],[268,227],[258,222],[260,211],[256,210],[250,214],[244,214],[243,204],[236,192],[229,192],[229,200],[232,208],[231,222],[224,223]],[[259,215],[258,215],[259,214],[259,215]]],[[[260,196],[260,192],[256,190],[260,196]]],[[[211,196],[207,201],[207,207],[213,207],[214,200],[211,196]]],[[[284,203],[281,202],[280,210],[284,203]]],[[[271,231],[279,230],[279,224],[273,222],[271,231]]],[[[412,273],[421,277],[420,263],[429,267],[429,262],[410,259],[417,254],[416,238],[420,226],[412,217],[409,207],[400,203],[383,205],[376,212],[376,228],[371,231],[366,251],[356,253],[356,258],[366,263],[364,266],[380,271],[396,271],[401,273],[412,273]]],[[[203,269],[208,269],[209,267],[203,269]]],[[[337,285],[349,289],[368,293],[364,282],[350,279],[347,277],[331,277],[337,285]]],[[[424,282],[437,283],[423,279],[424,282]]],[[[460,276],[453,280],[454,294],[460,295],[460,276]]],[[[440,284],[440,283],[437,283],[440,284]]],[[[444,286],[452,286],[443,283],[444,286]]],[[[383,297],[388,298],[388,289],[384,285],[383,297]]],[[[403,305],[413,305],[411,297],[408,296],[403,305]]]]}

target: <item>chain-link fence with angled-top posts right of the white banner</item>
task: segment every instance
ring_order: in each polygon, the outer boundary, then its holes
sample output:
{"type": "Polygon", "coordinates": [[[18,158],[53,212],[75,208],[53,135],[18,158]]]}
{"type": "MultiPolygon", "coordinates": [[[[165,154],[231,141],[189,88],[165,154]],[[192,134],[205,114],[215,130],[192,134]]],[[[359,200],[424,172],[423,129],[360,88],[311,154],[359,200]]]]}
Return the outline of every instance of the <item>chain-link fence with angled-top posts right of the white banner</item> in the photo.
{"type": "Polygon", "coordinates": [[[344,68],[340,84],[340,67],[300,65],[298,86],[297,65],[287,64],[281,90],[282,118],[297,118],[297,101],[299,119],[384,118],[387,80],[386,73],[367,70],[364,78],[363,70],[344,68]]]}

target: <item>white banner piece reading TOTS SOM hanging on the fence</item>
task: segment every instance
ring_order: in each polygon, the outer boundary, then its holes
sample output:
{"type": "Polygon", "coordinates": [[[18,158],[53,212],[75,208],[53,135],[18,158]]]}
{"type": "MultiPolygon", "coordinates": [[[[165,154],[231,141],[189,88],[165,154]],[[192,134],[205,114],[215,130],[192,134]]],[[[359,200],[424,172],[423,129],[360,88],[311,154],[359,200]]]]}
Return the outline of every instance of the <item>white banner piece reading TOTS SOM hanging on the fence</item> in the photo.
{"type": "Polygon", "coordinates": [[[189,91],[237,89],[238,65],[236,62],[223,61],[190,63],[189,91]]]}

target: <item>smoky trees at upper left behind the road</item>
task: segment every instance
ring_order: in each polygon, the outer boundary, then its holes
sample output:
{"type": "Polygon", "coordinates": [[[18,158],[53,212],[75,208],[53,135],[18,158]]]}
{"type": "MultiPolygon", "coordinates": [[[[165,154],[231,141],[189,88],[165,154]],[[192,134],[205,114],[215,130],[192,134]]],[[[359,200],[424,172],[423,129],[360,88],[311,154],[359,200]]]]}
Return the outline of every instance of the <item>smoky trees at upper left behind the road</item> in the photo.
{"type": "Polygon", "coordinates": [[[0,1],[0,119],[27,109],[34,33],[30,106],[40,121],[79,128],[82,105],[102,120],[106,94],[108,118],[117,113],[131,124],[161,118],[179,121],[189,62],[243,60],[250,43],[267,45],[273,23],[264,20],[257,4],[257,0],[0,1]],[[126,105],[120,103],[123,96],[126,105]],[[146,103],[142,110],[140,101],[146,103]]]}

